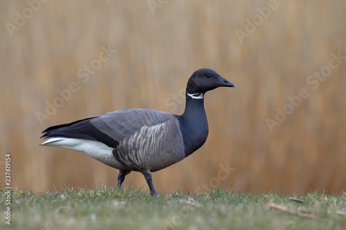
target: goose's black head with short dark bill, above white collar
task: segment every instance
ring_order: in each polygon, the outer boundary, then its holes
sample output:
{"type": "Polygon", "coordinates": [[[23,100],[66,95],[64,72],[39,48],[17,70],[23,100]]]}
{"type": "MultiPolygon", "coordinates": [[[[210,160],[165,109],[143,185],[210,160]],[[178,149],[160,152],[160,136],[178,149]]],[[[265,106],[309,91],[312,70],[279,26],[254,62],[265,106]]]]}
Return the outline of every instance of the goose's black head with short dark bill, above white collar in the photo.
{"type": "Polygon", "coordinates": [[[235,85],[221,77],[215,70],[201,68],[196,70],[188,81],[186,93],[206,93],[218,87],[234,87],[235,85]]]}

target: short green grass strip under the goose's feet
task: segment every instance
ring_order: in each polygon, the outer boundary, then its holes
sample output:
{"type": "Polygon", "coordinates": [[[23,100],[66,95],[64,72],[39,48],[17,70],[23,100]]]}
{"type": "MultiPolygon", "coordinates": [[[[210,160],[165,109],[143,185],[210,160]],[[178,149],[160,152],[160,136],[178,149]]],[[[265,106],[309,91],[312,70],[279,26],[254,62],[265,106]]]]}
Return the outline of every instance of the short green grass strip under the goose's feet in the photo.
{"type": "MultiPolygon", "coordinates": [[[[6,209],[1,193],[1,213],[6,209]]],[[[176,191],[152,198],[134,189],[12,191],[11,229],[346,229],[344,195],[176,191]],[[292,198],[297,200],[293,200],[292,198]]],[[[3,215],[3,214],[2,214],[3,215]]],[[[0,229],[8,228],[1,218],[0,229]]]]}

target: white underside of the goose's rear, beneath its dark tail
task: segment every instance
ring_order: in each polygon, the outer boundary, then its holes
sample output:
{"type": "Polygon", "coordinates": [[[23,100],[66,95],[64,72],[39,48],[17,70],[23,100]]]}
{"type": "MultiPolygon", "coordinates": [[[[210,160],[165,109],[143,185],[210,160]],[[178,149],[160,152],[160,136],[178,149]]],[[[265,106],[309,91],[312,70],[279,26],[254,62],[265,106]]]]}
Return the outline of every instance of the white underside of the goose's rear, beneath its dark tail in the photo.
{"type": "Polygon", "coordinates": [[[113,159],[113,148],[96,142],[93,140],[82,140],[78,138],[67,137],[51,137],[46,142],[40,144],[42,146],[56,146],[60,148],[71,149],[74,151],[85,153],[104,164],[110,163],[109,160],[113,159]]]}

